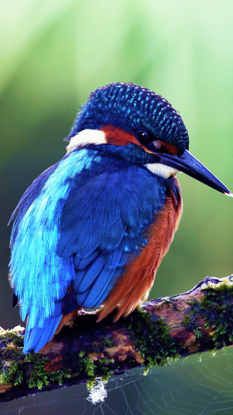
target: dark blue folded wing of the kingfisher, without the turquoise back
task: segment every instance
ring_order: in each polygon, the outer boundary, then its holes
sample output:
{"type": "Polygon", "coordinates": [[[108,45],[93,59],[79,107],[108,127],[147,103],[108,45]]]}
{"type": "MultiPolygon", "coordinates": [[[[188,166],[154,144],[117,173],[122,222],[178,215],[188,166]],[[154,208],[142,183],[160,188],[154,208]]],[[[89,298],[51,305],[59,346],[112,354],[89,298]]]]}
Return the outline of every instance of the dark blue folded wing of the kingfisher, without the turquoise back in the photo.
{"type": "Polygon", "coordinates": [[[98,307],[126,263],[147,243],[146,229],[164,206],[165,187],[146,168],[119,161],[75,186],[64,205],[57,254],[74,256],[75,278],[63,312],[98,307]],[[105,169],[106,170],[106,169],[105,169]]]}

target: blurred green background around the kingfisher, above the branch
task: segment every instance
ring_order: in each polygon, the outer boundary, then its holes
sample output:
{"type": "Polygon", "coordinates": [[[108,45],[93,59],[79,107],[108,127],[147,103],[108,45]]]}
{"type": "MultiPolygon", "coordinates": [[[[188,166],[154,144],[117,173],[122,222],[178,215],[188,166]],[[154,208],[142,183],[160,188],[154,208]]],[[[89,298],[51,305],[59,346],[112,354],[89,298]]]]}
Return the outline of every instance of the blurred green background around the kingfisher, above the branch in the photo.
{"type": "MultiPolygon", "coordinates": [[[[190,151],[233,191],[231,0],[8,0],[0,3],[0,325],[20,323],[7,280],[7,222],[64,154],[90,91],[133,82],[181,113],[190,151]]],[[[178,176],[183,218],[150,298],[233,272],[233,199],[178,176]]]]}

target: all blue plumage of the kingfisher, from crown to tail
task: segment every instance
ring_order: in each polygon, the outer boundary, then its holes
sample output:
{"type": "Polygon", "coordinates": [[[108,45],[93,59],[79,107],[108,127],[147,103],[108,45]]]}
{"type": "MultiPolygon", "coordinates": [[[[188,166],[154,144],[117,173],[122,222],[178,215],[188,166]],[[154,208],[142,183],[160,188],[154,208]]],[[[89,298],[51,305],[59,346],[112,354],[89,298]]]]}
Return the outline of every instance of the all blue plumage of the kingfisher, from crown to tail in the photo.
{"type": "MultiPolygon", "coordinates": [[[[97,89],[68,138],[110,124],[135,141],[123,146],[94,140],[73,151],[71,143],[67,156],[26,190],[11,217],[16,218],[10,262],[13,305],[18,301],[22,319],[28,317],[25,353],[50,340],[64,313],[104,302],[148,243],[169,178],[147,169],[160,157],[137,145],[137,132],[174,144],[178,155],[188,149],[180,114],[147,88],[116,83],[97,89]]],[[[176,190],[173,194],[175,198],[176,190]]]]}

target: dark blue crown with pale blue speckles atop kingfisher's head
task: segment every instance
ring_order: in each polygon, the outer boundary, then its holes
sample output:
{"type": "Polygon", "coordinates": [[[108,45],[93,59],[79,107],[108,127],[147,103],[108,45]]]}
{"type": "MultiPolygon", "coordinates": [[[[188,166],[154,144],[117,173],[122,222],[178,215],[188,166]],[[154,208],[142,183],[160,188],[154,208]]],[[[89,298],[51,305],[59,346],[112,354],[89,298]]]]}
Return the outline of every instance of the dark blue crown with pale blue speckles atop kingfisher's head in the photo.
{"type": "Polygon", "coordinates": [[[163,97],[132,83],[101,86],[90,94],[78,113],[69,140],[84,129],[113,124],[126,131],[148,130],[175,144],[179,153],[188,149],[188,132],[180,114],[163,97]]]}

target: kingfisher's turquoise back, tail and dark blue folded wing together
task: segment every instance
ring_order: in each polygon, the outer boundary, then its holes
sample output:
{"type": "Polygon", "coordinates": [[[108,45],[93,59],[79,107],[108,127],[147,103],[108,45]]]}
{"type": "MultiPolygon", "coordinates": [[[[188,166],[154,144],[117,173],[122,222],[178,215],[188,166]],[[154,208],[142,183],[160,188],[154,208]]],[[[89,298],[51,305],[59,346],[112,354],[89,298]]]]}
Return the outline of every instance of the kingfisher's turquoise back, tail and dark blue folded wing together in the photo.
{"type": "Polygon", "coordinates": [[[24,352],[50,340],[70,285],[78,305],[104,301],[146,243],[164,199],[164,183],[146,168],[88,149],[35,180],[17,207],[10,263],[22,319],[28,316],[24,352]]]}

